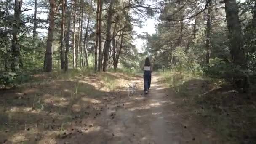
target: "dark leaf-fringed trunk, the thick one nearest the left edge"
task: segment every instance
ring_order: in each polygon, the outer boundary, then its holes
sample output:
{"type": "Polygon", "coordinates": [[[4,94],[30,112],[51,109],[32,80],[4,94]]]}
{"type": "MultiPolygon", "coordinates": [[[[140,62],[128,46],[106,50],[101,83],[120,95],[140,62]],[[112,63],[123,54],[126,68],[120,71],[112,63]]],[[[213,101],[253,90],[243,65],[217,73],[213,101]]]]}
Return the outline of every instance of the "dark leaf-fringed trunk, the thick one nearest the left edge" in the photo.
{"type": "Polygon", "coordinates": [[[11,61],[11,70],[15,72],[19,69],[19,55],[20,55],[20,45],[18,41],[18,35],[21,25],[21,7],[22,7],[22,0],[15,0],[14,5],[14,22],[13,22],[13,40],[11,46],[11,54],[12,54],[12,61],[11,61]]]}

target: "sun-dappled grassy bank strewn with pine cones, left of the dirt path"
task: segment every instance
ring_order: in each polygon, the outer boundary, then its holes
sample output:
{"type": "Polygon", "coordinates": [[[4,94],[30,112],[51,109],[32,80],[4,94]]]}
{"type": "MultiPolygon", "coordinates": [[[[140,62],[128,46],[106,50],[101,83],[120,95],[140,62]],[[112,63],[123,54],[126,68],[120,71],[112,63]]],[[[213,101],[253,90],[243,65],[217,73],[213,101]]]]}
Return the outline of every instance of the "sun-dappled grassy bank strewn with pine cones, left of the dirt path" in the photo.
{"type": "Polygon", "coordinates": [[[102,100],[112,96],[87,83],[71,80],[53,80],[2,93],[0,121],[4,125],[0,127],[0,142],[10,139],[9,142],[15,143],[14,138],[11,140],[12,135],[26,133],[33,143],[31,139],[35,136],[59,131],[79,117],[94,118],[101,111],[99,107],[107,104],[102,100]],[[42,133],[38,134],[39,131],[42,133]]]}

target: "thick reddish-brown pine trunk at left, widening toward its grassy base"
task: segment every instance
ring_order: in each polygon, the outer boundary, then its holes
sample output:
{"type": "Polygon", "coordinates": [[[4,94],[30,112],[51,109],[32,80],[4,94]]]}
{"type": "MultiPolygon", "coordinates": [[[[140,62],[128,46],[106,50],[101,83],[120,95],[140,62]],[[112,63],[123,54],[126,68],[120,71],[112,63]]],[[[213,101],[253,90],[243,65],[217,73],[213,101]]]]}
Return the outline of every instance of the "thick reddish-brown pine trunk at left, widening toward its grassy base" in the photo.
{"type": "Polygon", "coordinates": [[[45,52],[45,71],[46,72],[51,72],[52,70],[54,11],[55,11],[55,0],[50,0],[49,28],[48,28],[48,38],[47,38],[46,52],[45,52]]]}

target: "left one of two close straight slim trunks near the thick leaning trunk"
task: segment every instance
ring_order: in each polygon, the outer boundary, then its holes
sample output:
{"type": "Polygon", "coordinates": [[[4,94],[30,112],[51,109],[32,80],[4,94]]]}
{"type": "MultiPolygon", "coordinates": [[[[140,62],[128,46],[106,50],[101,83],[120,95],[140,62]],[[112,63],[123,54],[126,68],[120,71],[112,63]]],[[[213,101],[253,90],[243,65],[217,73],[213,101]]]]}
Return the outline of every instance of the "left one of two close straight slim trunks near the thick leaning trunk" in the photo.
{"type": "Polygon", "coordinates": [[[97,72],[97,59],[98,59],[98,44],[99,44],[99,7],[100,0],[97,0],[97,12],[96,12],[96,41],[95,41],[95,57],[94,57],[94,71],[97,72]]]}

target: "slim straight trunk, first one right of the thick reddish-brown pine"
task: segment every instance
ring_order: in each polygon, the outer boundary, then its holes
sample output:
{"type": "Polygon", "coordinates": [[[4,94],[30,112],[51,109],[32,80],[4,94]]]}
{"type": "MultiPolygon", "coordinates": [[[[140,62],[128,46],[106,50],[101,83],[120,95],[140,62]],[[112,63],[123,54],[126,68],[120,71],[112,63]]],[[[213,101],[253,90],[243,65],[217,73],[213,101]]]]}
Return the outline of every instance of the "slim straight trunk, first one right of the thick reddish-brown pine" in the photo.
{"type": "Polygon", "coordinates": [[[61,45],[59,48],[59,54],[61,59],[61,69],[64,69],[64,43],[65,43],[65,13],[66,13],[66,3],[62,0],[62,17],[61,17],[61,45]]]}

